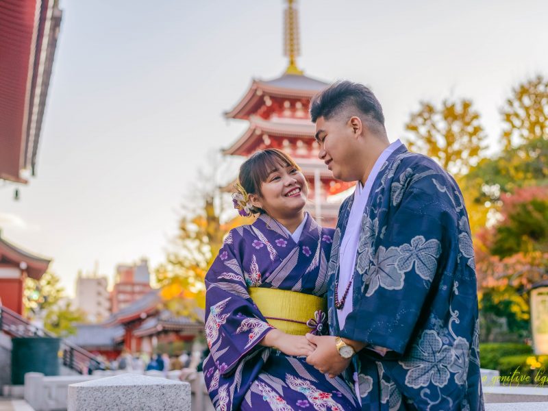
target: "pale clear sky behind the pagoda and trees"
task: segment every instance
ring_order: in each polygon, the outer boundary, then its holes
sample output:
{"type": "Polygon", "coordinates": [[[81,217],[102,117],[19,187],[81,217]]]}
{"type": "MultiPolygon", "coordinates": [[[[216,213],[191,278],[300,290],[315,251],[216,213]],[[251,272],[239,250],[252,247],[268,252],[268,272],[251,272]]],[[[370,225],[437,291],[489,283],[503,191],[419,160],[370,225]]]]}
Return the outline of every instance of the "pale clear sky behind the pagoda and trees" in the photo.
{"type": "MultiPolygon", "coordinates": [[[[283,0],[60,0],[63,10],[36,177],[0,183],[3,238],[111,281],[177,233],[212,153],[247,128],[227,120],[253,78],[284,72],[283,0]]],[[[390,141],[420,101],[473,100],[499,147],[513,86],[548,76],[548,2],[299,0],[306,75],[370,86],[390,141]]],[[[237,162],[232,160],[234,167],[237,162]]]]}

